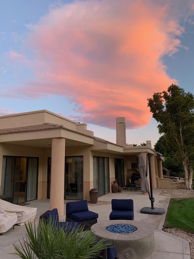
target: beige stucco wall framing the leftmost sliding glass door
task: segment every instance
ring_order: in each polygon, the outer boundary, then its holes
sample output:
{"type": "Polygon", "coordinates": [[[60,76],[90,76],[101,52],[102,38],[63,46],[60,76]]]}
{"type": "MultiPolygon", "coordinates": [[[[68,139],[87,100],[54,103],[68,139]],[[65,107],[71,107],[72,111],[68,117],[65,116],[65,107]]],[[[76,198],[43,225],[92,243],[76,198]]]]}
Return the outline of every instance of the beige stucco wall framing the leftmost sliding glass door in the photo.
{"type": "Polygon", "coordinates": [[[38,199],[42,199],[42,185],[44,172],[44,148],[34,148],[19,145],[3,144],[0,143],[0,185],[2,178],[2,163],[3,155],[7,156],[23,156],[23,157],[38,157],[38,199]]]}

